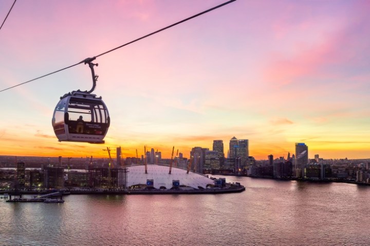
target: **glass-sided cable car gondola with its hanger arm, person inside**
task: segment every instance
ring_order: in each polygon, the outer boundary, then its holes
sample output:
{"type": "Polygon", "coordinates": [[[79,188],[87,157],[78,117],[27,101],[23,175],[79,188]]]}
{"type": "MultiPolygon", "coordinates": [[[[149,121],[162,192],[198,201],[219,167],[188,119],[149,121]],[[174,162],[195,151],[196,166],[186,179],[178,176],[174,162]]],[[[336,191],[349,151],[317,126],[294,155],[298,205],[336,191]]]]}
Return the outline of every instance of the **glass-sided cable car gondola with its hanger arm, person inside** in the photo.
{"type": "Polygon", "coordinates": [[[98,76],[91,63],[96,57],[84,60],[93,75],[93,88],[90,91],[72,91],[61,96],[52,117],[54,133],[59,141],[89,142],[104,144],[110,118],[101,96],[91,94],[95,90],[98,76]]]}

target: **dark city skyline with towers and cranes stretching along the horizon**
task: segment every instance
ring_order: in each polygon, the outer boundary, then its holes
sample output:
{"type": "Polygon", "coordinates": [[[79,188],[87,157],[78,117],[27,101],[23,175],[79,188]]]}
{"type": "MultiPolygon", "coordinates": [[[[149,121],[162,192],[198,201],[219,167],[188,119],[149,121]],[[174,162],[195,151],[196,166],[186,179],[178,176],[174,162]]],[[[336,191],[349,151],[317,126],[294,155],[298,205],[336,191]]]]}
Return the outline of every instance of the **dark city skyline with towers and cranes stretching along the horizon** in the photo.
{"type": "Polygon", "coordinates": [[[369,183],[368,159],[323,159],[318,154],[308,158],[308,146],[295,144],[295,153],[287,156],[267,156],[255,160],[249,155],[248,139],[233,137],[225,156],[223,140],[214,140],[213,148],[194,147],[190,158],[173,150],[172,158],[162,158],[153,148],[145,156],[122,156],[121,147],[115,154],[107,149],[107,158],[80,157],[15,157],[0,156],[0,187],[3,189],[64,189],[65,187],[124,188],[120,182],[124,167],[156,164],[204,175],[235,175],[276,179],[303,179],[369,183]],[[175,152],[175,153],[174,153],[175,152]],[[112,157],[114,156],[115,157],[112,157]]]}

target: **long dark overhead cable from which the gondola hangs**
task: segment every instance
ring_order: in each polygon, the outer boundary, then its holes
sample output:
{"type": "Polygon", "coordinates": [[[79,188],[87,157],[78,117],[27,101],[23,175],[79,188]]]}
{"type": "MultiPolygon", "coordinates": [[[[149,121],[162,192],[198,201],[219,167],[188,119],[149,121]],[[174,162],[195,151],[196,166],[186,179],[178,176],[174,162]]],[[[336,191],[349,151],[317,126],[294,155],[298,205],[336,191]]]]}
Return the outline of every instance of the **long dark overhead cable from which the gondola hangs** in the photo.
{"type": "MultiPolygon", "coordinates": [[[[230,3],[235,2],[235,1],[236,1],[236,0],[230,0],[230,1],[225,2],[225,3],[223,3],[223,4],[217,5],[217,6],[213,7],[213,8],[210,8],[210,9],[208,9],[208,10],[205,10],[205,11],[203,11],[203,12],[200,12],[200,13],[198,13],[198,14],[195,14],[195,15],[193,15],[193,16],[190,16],[190,17],[188,17],[188,18],[186,18],[186,19],[180,20],[179,22],[176,22],[176,23],[174,23],[174,24],[172,24],[172,25],[170,25],[170,26],[164,27],[164,28],[159,29],[159,30],[157,30],[157,31],[155,31],[155,32],[152,32],[152,33],[150,33],[150,34],[147,34],[147,35],[145,35],[145,36],[139,37],[139,38],[137,38],[137,39],[135,39],[135,40],[132,40],[131,42],[128,42],[128,43],[126,43],[126,44],[124,44],[124,45],[118,46],[118,47],[116,47],[116,48],[114,48],[114,49],[112,49],[112,50],[108,50],[108,51],[106,51],[106,52],[104,52],[104,53],[101,53],[101,54],[96,55],[96,56],[91,57],[91,58],[86,58],[86,59],[84,59],[84,60],[80,61],[79,63],[73,64],[73,65],[71,65],[71,66],[69,66],[69,67],[62,68],[62,69],[60,69],[60,70],[57,70],[57,71],[54,71],[54,72],[51,72],[51,73],[45,74],[45,75],[43,75],[43,76],[40,76],[40,77],[37,77],[37,78],[31,79],[31,80],[28,80],[28,81],[26,81],[26,82],[24,82],[24,83],[21,83],[21,84],[18,84],[18,85],[15,85],[15,86],[12,86],[12,87],[9,87],[9,88],[6,88],[6,89],[3,89],[3,90],[1,90],[0,92],[3,92],[3,91],[6,91],[6,90],[9,90],[9,89],[12,89],[12,88],[17,87],[17,86],[24,85],[24,84],[29,83],[29,82],[31,82],[31,81],[34,81],[34,80],[36,80],[36,79],[46,77],[46,76],[48,76],[48,75],[51,75],[51,74],[54,74],[54,73],[57,73],[57,72],[63,71],[63,70],[65,70],[65,69],[68,69],[68,68],[71,68],[71,67],[77,66],[77,65],[82,64],[82,63],[87,64],[87,63],[89,63],[90,61],[95,60],[95,58],[97,58],[97,57],[99,57],[99,56],[105,55],[105,54],[107,54],[107,53],[109,53],[109,52],[112,52],[112,51],[114,51],[114,50],[117,50],[117,49],[119,49],[119,48],[122,48],[122,47],[124,47],[124,46],[126,46],[126,45],[130,45],[130,44],[132,44],[132,43],[135,43],[135,42],[137,42],[137,41],[139,41],[139,40],[141,40],[141,39],[143,39],[143,38],[145,38],[145,37],[149,37],[149,36],[151,36],[151,35],[153,35],[153,34],[156,34],[156,33],[158,33],[158,32],[161,32],[161,31],[164,31],[164,30],[169,29],[169,28],[171,28],[171,27],[174,27],[174,26],[176,26],[176,25],[178,25],[178,24],[181,24],[181,23],[183,23],[183,22],[186,22],[187,20],[190,20],[190,19],[192,19],[192,18],[198,17],[199,15],[202,15],[202,14],[208,13],[208,12],[210,12],[210,11],[212,11],[212,10],[218,9],[218,8],[220,8],[220,7],[223,7],[223,6],[227,5],[227,4],[230,4],[230,3]]],[[[14,1],[14,2],[15,2],[15,1],[14,1]]]]}

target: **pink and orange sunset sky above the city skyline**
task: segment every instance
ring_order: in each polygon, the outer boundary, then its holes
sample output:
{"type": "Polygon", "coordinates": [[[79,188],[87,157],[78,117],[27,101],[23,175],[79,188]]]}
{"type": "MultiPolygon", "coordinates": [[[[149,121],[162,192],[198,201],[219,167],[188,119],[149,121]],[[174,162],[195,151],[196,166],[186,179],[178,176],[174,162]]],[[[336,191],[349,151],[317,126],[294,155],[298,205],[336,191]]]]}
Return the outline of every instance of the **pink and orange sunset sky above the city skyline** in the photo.
{"type": "MultiPolygon", "coordinates": [[[[13,0],[0,1],[3,22],[13,0]]],[[[0,90],[68,67],[224,3],[18,0],[0,30],[0,90]]],[[[0,155],[105,157],[121,146],[170,158],[213,140],[249,139],[267,159],[370,157],[370,1],[248,1],[201,15],[97,58],[104,145],[59,142],[60,96],[89,90],[78,65],[0,92],[0,155]]],[[[114,154],[114,153],[113,153],[114,154]]]]}

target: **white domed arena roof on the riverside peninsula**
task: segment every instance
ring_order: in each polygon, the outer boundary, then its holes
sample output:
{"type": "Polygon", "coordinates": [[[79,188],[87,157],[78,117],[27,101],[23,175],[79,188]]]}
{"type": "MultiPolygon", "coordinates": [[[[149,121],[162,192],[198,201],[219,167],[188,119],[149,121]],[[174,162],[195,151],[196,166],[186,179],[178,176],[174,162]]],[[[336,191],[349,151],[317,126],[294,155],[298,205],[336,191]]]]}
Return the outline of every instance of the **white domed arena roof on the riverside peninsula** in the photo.
{"type": "Polygon", "coordinates": [[[131,166],[127,168],[127,187],[146,186],[155,189],[171,189],[178,188],[194,188],[206,189],[208,185],[214,185],[214,180],[207,178],[198,173],[189,172],[187,170],[172,167],[169,174],[169,166],[147,165],[147,173],[145,174],[145,166],[131,166]]]}

